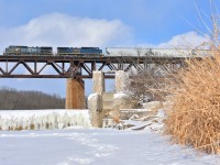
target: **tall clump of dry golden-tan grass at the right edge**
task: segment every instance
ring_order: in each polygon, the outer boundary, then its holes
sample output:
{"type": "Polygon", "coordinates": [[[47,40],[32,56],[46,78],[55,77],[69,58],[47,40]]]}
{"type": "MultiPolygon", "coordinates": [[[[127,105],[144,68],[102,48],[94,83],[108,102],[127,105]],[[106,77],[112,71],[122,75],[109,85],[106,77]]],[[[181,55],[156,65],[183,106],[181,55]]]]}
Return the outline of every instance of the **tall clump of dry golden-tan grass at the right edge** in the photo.
{"type": "Polygon", "coordinates": [[[207,153],[220,153],[220,51],[213,54],[188,61],[177,74],[174,105],[165,121],[174,142],[207,153]]]}

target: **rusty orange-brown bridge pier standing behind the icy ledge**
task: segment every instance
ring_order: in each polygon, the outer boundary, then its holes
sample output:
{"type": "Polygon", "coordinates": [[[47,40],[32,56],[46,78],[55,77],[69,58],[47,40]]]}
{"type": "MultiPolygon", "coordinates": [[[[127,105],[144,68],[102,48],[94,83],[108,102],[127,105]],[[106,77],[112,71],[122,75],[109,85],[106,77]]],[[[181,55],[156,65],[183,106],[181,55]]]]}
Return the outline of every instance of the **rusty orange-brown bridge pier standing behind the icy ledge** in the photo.
{"type": "Polygon", "coordinates": [[[68,78],[66,80],[66,109],[85,109],[84,80],[68,78]]]}

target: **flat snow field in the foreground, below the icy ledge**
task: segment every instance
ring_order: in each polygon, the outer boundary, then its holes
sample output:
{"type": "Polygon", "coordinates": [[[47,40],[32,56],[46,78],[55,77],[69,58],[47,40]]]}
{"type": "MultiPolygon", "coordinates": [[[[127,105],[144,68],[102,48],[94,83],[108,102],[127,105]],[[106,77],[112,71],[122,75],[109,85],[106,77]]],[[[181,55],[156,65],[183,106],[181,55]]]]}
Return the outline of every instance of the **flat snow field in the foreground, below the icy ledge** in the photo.
{"type": "Polygon", "coordinates": [[[212,165],[213,155],[172,145],[147,131],[1,131],[0,165],[212,165]]]}

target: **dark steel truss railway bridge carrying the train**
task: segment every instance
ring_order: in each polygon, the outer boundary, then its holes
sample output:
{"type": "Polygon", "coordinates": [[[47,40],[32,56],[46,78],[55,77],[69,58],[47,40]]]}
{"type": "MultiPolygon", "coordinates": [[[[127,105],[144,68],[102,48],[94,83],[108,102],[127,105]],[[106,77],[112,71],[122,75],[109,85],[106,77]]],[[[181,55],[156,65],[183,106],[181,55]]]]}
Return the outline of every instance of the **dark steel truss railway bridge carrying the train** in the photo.
{"type": "Polygon", "coordinates": [[[3,56],[0,55],[0,78],[92,78],[94,70],[107,70],[106,78],[114,78],[113,70],[129,72],[132,67],[183,65],[184,57],[155,56],[3,56]],[[21,66],[24,73],[18,73],[21,66]],[[48,68],[50,70],[48,72],[48,68]]]}

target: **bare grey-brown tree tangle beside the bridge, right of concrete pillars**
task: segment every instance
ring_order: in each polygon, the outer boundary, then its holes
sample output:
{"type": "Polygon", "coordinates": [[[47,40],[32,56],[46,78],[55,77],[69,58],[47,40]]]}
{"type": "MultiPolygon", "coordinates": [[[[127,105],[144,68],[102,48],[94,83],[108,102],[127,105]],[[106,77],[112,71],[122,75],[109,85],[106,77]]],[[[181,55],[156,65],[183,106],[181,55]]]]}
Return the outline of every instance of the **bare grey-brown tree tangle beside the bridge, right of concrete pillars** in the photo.
{"type": "Polygon", "coordinates": [[[143,52],[141,48],[135,50],[139,58],[132,62],[136,67],[130,72],[130,80],[127,85],[129,94],[140,102],[164,100],[168,95],[167,88],[170,88],[170,81],[175,79],[175,70],[180,65],[150,63],[153,54],[151,48],[147,52],[143,52]]]}

